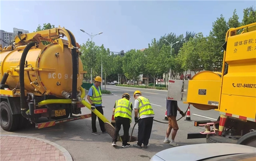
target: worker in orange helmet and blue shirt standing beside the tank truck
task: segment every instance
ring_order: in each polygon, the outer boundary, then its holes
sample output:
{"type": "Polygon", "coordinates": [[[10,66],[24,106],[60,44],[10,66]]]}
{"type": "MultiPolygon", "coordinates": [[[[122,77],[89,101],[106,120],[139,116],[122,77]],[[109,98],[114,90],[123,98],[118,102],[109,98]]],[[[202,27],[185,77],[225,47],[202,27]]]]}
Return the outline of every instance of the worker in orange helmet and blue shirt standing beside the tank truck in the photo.
{"type": "MultiPolygon", "coordinates": [[[[89,101],[89,103],[91,103],[91,126],[93,129],[93,132],[91,134],[94,135],[100,135],[97,132],[97,128],[96,128],[96,114],[93,112],[95,109],[97,109],[102,115],[103,115],[103,109],[102,109],[102,95],[101,95],[101,91],[100,91],[100,85],[102,82],[102,79],[100,76],[96,76],[94,79],[94,84],[90,87],[88,95],[87,95],[87,100],[89,101]]],[[[104,122],[98,118],[99,124],[100,124],[100,130],[102,131],[102,133],[104,134],[108,134],[106,132],[106,129],[104,127],[104,122]]]]}

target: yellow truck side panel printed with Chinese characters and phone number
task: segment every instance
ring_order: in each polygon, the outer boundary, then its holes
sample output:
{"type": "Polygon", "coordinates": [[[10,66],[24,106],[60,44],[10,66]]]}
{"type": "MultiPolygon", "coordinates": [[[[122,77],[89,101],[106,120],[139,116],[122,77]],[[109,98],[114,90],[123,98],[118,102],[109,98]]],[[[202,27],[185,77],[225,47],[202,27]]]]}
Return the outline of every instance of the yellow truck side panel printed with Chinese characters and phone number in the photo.
{"type": "Polygon", "coordinates": [[[228,73],[223,76],[219,111],[255,120],[256,31],[229,36],[225,62],[228,73]]]}

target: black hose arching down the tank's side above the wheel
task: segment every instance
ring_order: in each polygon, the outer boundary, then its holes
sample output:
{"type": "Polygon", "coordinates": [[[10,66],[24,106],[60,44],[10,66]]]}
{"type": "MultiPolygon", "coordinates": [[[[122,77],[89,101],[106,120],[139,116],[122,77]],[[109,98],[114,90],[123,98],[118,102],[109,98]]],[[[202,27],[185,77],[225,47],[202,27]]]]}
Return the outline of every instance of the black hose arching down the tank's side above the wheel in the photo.
{"type": "Polygon", "coordinates": [[[38,44],[38,42],[31,42],[28,45],[26,45],[24,51],[22,52],[21,58],[20,58],[20,109],[21,114],[24,118],[29,119],[30,117],[26,114],[26,111],[28,110],[28,107],[26,107],[26,96],[25,96],[25,85],[24,85],[24,67],[25,67],[25,61],[26,56],[28,54],[28,51],[30,48],[35,46],[35,44],[38,44]]]}

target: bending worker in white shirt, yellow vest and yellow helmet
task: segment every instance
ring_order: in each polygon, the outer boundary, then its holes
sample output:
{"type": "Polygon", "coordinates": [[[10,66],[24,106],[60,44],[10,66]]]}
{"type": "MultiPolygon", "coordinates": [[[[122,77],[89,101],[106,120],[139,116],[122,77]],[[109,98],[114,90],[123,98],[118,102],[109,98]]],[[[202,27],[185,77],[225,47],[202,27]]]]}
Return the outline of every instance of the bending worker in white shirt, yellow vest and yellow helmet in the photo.
{"type": "Polygon", "coordinates": [[[143,144],[143,147],[147,148],[153,125],[154,110],[152,109],[149,100],[141,96],[141,92],[139,90],[134,92],[134,98],[134,120],[139,125],[139,131],[138,143],[133,146],[142,148],[141,145],[143,144]]]}

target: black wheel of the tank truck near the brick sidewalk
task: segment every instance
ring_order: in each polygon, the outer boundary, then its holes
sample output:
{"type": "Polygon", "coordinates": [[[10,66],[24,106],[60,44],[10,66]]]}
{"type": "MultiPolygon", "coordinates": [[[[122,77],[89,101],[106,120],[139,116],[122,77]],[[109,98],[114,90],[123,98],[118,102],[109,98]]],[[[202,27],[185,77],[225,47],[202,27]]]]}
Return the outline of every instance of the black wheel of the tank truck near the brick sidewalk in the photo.
{"type": "Polygon", "coordinates": [[[11,114],[11,107],[7,101],[0,103],[1,127],[6,131],[13,131],[18,128],[19,117],[11,114]]]}

